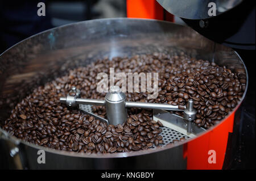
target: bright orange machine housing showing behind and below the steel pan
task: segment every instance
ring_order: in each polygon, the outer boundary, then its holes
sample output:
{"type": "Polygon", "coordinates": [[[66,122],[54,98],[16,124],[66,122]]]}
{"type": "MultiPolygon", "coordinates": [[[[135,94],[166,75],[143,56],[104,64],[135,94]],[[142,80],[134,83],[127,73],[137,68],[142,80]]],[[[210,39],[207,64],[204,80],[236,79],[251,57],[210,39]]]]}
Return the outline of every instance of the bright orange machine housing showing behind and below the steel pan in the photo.
{"type": "MultiPolygon", "coordinates": [[[[147,18],[174,22],[174,16],[163,9],[156,0],[126,0],[127,18],[147,18]]],[[[235,111],[212,131],[184,145],[187,169],[222,169],[229,133],[233,132],[235,111]],[[216,163],[208,162],[214,150],[216,163]]]]}

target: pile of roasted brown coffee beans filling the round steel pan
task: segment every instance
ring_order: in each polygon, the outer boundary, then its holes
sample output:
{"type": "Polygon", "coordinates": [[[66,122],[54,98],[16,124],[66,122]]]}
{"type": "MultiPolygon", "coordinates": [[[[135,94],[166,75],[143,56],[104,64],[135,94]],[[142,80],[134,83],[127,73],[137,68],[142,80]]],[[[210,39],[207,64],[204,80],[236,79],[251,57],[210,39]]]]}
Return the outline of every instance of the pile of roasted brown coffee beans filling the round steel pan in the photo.
{"type": "MultiPolygon", "coordinates": [[[[110,68],[115,68],[115,73],[158,72],[158,98],[147,99],[148,92],[126,93],[127,100],[182,108],[188,99],[193,99],[197,110],[195,123],[206,129],[237,106],[246,87],[243,69],[232,72],[225,66],[196,60],[184,53],[180,56],[154,53],[117,57],[111,61],[105,58],[70,70],[64,77],[35,89],[15,106],[3,129],[36,145],[86,154],[128,152],[162,145],[163,138],[159,134],[163,125],[152,120],[152,110],[131,108],[127,122],[114,126],[59,102],[72,86],[81,90],[82,98],[104,99],[105,93],[96,90],[100,81],[96,77],[101,72],[109,74],[110,68]]],[[[94,106],[93,112],[106,116],[102,106],[94,106]]],[[[181,112],[174,113],[182,116],[181,112]]]]}

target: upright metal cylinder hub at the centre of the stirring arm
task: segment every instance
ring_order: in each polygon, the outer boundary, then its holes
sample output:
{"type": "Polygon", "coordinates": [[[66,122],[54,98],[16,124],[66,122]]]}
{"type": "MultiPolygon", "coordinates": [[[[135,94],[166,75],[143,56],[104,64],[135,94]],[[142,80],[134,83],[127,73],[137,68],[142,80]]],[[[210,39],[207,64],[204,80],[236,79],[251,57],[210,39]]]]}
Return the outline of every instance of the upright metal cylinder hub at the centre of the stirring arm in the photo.
{"type": "Polygon", "coordinates": [[[127,110],[125,108],[126,95],[119,87],[110,87],[110,92],[105,96],[106,115],[109,124],[123,124],[127,120],[127,110]]]}

